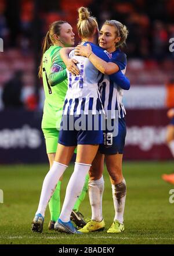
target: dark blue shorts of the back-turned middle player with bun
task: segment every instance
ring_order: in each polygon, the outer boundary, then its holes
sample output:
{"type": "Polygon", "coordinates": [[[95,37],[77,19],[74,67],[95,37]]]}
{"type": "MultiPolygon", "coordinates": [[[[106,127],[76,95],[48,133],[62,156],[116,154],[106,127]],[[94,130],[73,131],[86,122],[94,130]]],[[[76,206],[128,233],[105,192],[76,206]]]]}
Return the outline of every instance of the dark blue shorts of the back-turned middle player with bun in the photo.
{"type": "MultiPolygon", "coordinates": [[[[67,115],[63,116],[61,120],[62,129],[59,133],[59,144],[66,146],[75,146],[78,144],[84,145],[97,145],[103,143],[103,130],[102,130],[102,115],[92,115],[92,119],[88,119],[88,115],[84,115],[85,124],[82,125],[81,115],[73,116],[67,115]],[[63,127],[63,118],[67,118],[67,127],[63,127]],[[94,118],[99,122],[99,126],[94,125],[94,118]],[[73,119],[73,121],[72,121],[73,119]],[[70,127],[71,122],[71,127],[70,127]],[[72,123],[74,127],[72,127],[72,123]],[[75,125],[76,123],[76,125],[75,125]],[[78,125],[79,124],[79,125],[78,125]],[[79,126],[83,126],[82,129],[79,129],[79,126]]],[[[95,120],[96,120],[95,119],[95,120]]]]}

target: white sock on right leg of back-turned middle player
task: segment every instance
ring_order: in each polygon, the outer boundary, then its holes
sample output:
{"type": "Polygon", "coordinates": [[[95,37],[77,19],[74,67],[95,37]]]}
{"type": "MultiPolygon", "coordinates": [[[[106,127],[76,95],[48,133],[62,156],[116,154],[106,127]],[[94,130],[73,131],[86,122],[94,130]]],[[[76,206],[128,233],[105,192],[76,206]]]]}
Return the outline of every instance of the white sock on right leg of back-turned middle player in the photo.
{"type": "Polygon", "coordinates": [[[86,163],[76,163],[74,166],[74,172],[70,177],[70,180],[66,189],[66,196],[64,198],[63,207],[59,219],[63,222],[70,221],[70,215],[73,211],[75,201],[81,194],[81,191],[85,184],[86,174],[89,172],[91,165],[86,163]]]}

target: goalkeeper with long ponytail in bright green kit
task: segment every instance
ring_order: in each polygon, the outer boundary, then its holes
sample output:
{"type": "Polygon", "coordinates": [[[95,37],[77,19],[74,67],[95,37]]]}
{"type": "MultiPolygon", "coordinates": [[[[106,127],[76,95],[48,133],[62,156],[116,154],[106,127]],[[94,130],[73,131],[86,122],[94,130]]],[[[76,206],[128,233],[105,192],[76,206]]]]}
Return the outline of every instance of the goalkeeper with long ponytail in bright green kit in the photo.
{"type": "MultiPolygon", "coordinates": [[[[50,24],[49,31],[43,42],[43,57],[41,66],[39,67],[39,77],[43,79],[45,91],[42,131],[46,141],[46,152],[50,167],[55,160],[61,115],[67,92],[66,66],[60,57],[59,51],[62,47],[73,47],[73,45],[74,33],[70,24],[64,21],[57,21],[50,24]]],[[[78,74],[78,69],[74,69],[74,74],[78,74]]],[[[78,211],[78,208],[88,191],[88,180],[89,176],[87,175],[84,188],[75,202],[73,212],[71,213],[71,220],[78,227],[86,225],[83,219],[84,216],[78,211]]],[[[55,193],[53,193],[49,201],[49,229],[54,229],[55,222],[60,215],[60,186],[61,179],[57,183],[55,193]]]]}

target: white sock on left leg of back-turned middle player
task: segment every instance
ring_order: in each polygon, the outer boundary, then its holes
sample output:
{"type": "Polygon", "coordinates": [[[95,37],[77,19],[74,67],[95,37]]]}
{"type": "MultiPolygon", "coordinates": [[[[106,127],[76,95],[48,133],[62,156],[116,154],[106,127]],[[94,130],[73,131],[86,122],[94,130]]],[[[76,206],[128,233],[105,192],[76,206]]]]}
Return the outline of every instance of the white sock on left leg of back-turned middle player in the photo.
{"type": "Polygon", "coordinates": [[[56,189],[57,182],[67,167],[68,166],[63,165],[63,163],[58,163],[56,161],[53,162],[53,165],[45,176],[44,183],[42,185],[41,197],[36,214],[42,214],[42,216],[45,216],[45,210],[48,202],[56,189]]]}

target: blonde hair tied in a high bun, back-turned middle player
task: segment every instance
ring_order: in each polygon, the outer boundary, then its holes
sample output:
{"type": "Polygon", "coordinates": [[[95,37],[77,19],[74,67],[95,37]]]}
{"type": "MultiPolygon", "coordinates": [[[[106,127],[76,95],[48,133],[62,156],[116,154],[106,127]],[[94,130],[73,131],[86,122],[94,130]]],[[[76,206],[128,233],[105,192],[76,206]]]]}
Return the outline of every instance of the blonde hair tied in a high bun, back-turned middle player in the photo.
{"type": "Polygon", "coordinates": [[[90,16],[88,8],[80,7],[78,9],[77,29],[79,37],[87,38],[93,35],[95,29],[98,30],[98,23],[95,17],[90,16]]]}

